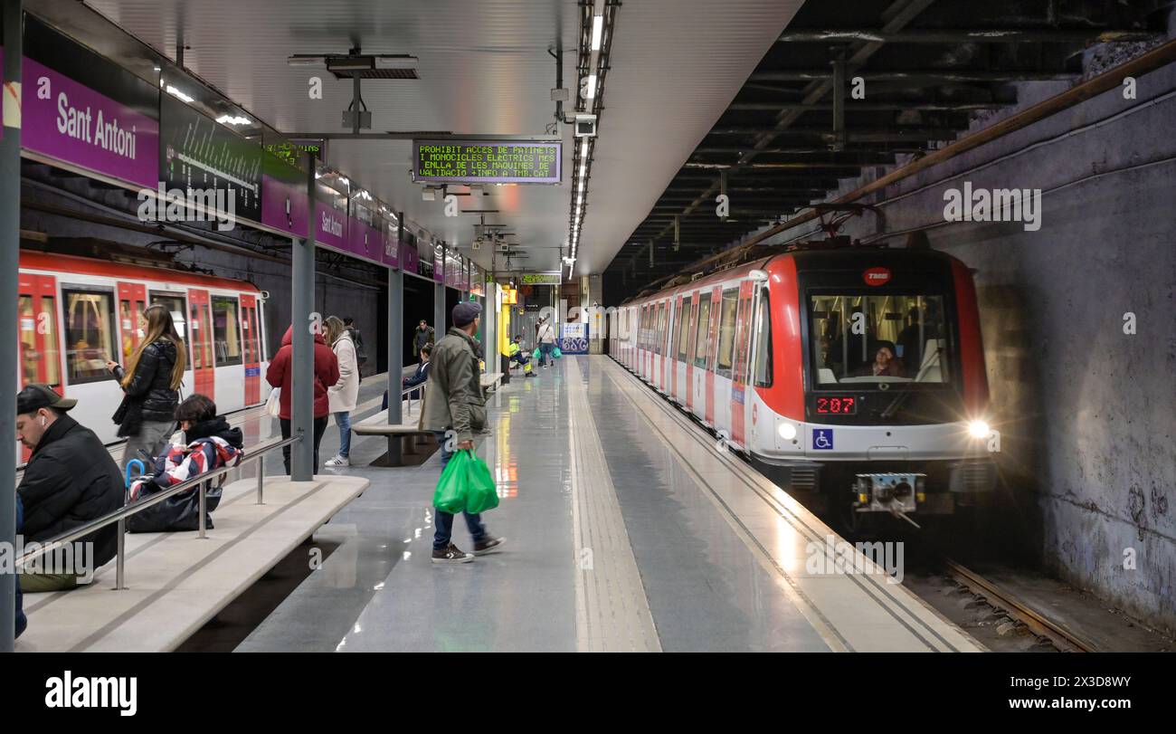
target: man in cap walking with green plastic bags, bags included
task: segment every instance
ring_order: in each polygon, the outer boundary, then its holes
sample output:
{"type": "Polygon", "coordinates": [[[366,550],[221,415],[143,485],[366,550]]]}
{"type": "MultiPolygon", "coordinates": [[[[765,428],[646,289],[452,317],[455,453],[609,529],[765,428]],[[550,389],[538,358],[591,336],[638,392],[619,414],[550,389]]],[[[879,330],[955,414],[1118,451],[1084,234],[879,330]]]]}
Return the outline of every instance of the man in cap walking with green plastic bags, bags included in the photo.
{"type": "Polygon", "coordinates": [[[474,347],[482,307],[470,301],[454,307],[454,326],[433,347],[425,387],[420,428],[432,431],[437,438],[445,467],[433,495],[436,508],[434,563],[468,563],[475,555],[500,549],[506,540],[490,535],[480,515],[499,503],[489,467],[474,453],[474,432],[486,426],[486,398],[474,347]],[[466,518],[466,527],[474,539],[473,554],[452,541],[453,516],[459,512],[466,518]]]}

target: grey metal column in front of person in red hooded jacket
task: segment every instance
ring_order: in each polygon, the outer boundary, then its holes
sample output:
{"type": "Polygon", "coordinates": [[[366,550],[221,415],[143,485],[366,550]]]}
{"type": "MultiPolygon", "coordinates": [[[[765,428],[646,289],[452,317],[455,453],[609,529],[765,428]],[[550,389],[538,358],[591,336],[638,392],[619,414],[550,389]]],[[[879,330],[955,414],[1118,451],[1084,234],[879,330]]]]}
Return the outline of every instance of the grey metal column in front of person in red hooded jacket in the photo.
{"type": "Polygon", "coordinates": [[[314,236],[319,216],[315,213],[315,161],[306,154],[307,188],[306,239],[294,239],[290,273],[290,323],[293,325],[290,359],[290,435],[302,434],[302,440],[290,446],[290,476],[294,481],[310,481],[314,476],[314,334],[322,328],[321,314],[314,313],[314,236]]]}

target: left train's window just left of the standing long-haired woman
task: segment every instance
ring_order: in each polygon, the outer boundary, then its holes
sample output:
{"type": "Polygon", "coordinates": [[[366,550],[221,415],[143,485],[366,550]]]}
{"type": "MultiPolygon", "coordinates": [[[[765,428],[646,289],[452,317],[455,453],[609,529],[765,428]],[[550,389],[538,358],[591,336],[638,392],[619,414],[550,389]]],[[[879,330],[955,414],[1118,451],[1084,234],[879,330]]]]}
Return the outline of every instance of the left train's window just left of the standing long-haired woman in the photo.
{"type": "Polygon", "coordinates": [[[71,385],[113,380],[107,360],[119,356],[114,331],[114,294],[64,288],[66,299],[66,371],[71,385]]]}

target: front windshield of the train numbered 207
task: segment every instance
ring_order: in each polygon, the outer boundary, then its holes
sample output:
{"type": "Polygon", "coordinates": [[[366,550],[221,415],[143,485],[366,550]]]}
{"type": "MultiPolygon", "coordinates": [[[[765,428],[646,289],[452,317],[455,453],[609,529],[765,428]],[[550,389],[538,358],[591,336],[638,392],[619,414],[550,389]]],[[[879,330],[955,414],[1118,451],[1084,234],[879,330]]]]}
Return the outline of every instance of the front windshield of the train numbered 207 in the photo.
{"type": "Polygon", "coordinates": [[[821,294],[809,299],[813,386],[951,381],[943,298],[821,294]]]}

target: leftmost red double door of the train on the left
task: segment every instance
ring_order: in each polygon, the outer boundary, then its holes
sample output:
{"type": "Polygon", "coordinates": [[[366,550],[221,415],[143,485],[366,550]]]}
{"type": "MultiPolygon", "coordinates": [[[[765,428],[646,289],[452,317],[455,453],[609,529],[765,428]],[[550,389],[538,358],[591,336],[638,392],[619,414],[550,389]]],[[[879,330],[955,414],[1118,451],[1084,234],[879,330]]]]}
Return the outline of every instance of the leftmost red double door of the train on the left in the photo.
{"type": "MultiPolygon", "coordinates": [[[[20,353],[16,388],[21,389],[29,382],[44,382],[59,395],[64,395],[56,278],[20,274],[16,291],[16,333],[20,353]]],[[[28,461],[31,453],[21,446],[20,461],[28,461]]]]}

